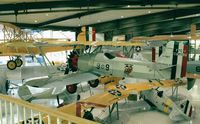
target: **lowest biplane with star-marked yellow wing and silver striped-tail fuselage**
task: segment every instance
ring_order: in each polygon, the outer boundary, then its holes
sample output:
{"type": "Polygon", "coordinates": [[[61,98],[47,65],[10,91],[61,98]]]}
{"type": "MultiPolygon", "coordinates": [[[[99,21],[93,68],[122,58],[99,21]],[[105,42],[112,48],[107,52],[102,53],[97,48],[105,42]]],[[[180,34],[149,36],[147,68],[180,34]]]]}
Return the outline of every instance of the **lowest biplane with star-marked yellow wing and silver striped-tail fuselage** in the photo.
{"type": "MultiPolygon", "coordinates": [[[[113,84],[109,84],[106,87],[106,92],[101,94],[93,95],[89,98],[80,100],[76,103],[71,103],[68,105],[62,105],[58,107],[58,111],[75,115],[78,117],[83,117],[85,119],[96,121],[92,110],[94,108],[103,108],[118,105],[118,102],[127,98],[132,92],[140,95],[142,102],[149,104],[152,108],[157,108],[158,110],[169,114],[169,118],[173,121],[180,120],[190,120],[194,117],[194,108],[188,100],[183,100],[179,104],[172,101],[167,97],[163,91],[158,90],[158,87],[169,88],[172,86],[185,85],[185,81],[177,84],[174,80],[161,80],[153,82],[141,82],[134,84],[118,84],[118,79],[113,84]],[[117,85],[114,85],[117,84],[117,85]]],[[[130,106],[129,106],[130,107],[130,106]]],[[[142,104],[142,108],[145,107],[142,104]]],[[[109,109],[111,114],[113,109],[109,109]]],[[[118,110],[117,110],[118,112],[118,110]]],[[[34,117],[34,121],[38,122],[39,118],[34,117]]],[[[32,120],[28,119],[27,123],[31,123],[32,120]]],[[[55,123],[56,118],[51,117],[51,123],[55,123]]],[[[23,122],[22,122],[23,123],[23,122]]],[[[42,123],[48,123],[48,116],[42,115],[42,123]]],[[[68,123],[68,122],[62,122],[68,123]]]]}

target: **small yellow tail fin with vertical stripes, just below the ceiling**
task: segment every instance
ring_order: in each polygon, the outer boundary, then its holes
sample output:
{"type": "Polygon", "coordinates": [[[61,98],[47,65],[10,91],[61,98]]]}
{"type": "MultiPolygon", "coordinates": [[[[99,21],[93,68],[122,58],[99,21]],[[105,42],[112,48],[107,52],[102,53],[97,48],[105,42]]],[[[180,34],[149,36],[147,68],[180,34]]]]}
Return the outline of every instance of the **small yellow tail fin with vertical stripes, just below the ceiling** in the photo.
{"type": "Polygon", "coordinates": [[[96,31],[93,27],[83,26],[81,32],[77,36],[78,41],[95,41],[96,40],[96,31]]]}

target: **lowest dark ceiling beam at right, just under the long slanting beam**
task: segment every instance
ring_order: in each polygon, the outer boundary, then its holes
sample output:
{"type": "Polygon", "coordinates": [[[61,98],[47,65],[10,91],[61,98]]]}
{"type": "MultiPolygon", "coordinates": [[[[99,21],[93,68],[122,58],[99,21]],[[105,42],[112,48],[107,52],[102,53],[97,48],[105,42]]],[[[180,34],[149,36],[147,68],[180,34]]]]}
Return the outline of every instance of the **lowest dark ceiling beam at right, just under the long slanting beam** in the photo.
{"type": "Polygon", "coordinates": [[[134,36],[135,35],[138,36],[141,34],[154,35],[154,34],[160,34],[161,33],[160,30],[165,30],[165,32],[176,32],[177,30],[190,30],[191,24],[200,24],[200,17],[167,20],[167,21],[162,21],[162,22],[157,22],[157,23],[127,27],[127,28],[119,29],[119,30],[116,29],[111,32],[113,33],[113,35],[122,35],[122,34],[133,34],[134,36]],[[181,27],[181,29],[174,28],[174,27],[181,27]]]}

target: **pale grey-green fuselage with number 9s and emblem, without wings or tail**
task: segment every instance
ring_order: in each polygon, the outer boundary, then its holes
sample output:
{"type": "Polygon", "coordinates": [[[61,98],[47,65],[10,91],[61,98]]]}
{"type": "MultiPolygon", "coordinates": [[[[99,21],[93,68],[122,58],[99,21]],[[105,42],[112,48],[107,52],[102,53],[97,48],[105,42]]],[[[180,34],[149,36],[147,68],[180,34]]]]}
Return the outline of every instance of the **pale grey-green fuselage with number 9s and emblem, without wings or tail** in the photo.
{"type": "Polygon", "coordinates": [[[161,66],[166,67],[163,64],[155,65],[153,62],[141,62],[130,58],[114,57],[109,53],[85,55],[78,59],[78,69],[84,72],[93,71],[100,75],[112,75],[116,77],[170,79],[168,72],[171,69],[156,70],[157,67],[161,66]]]}

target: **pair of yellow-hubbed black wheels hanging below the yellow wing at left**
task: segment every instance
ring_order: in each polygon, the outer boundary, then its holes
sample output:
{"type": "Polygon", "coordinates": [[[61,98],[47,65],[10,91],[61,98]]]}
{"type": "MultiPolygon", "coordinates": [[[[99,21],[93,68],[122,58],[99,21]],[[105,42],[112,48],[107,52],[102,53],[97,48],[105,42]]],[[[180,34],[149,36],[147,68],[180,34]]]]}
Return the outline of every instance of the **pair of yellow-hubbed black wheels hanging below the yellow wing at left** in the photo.
{"type": "Polygon", "coordinates": [[[23,61],[19,58],[15,60],[10,60],[7,62],[7,68],[9,70],[15,70],[17,67],[21,67],[23,64],[23,61]]]}

